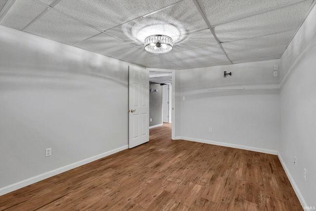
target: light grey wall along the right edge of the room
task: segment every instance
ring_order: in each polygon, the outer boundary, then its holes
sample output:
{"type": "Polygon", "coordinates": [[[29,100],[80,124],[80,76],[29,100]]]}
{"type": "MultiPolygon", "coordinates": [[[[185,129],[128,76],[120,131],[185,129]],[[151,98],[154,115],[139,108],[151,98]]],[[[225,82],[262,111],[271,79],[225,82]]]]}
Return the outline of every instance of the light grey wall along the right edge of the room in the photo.
{"type": "Polygon", "coordinates": [[[279,158],[303,206],[316,206],[316,7],[280,59],[279,158]],[[294,156],[297,165],[294,165],[294,156]],[[307,169],[307,181],[304,179],[307,169]]]}

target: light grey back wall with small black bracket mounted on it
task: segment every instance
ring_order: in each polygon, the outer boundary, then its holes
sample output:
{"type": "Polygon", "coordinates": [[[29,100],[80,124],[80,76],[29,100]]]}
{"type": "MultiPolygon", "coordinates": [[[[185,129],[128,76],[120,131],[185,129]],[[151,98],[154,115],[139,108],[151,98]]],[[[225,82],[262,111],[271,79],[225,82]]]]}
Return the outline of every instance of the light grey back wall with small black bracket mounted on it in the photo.
{"type": "Polygon", "coordinates": [[[270,60],[178,71],[181,138],[276,154],[279,78],[273,77],[273,66],[278,63],[270,60]],[[224,71],[232,76],[224,78],[224,71]],[[208,90],[219,87],[245,90],[208,90]]]}

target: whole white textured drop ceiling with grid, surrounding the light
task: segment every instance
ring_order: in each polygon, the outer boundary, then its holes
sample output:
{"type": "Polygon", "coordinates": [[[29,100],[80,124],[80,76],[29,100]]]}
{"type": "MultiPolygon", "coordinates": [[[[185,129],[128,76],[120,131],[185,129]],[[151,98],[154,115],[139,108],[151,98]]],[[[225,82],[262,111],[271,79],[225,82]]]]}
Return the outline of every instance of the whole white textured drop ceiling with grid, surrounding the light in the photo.
{"type": "Polygon", "coordinates": [[[147,68],[278,59],[316,0],[0,0],[0,25],[147,68]],[[172,37],[166,54],[144,50],[172,37]]]}

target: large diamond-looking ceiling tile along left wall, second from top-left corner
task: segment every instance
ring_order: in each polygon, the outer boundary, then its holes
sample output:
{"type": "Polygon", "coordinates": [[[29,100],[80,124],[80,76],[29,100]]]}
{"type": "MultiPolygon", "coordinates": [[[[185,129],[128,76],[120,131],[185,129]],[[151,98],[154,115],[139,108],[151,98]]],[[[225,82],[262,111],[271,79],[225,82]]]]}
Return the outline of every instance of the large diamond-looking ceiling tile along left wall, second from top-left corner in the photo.
{"type": "Polygon", "coordinates": [[[37,22],[28,27],[26,32],[70,45],[100,33],[53,9],[50,9],[37,22]]]}

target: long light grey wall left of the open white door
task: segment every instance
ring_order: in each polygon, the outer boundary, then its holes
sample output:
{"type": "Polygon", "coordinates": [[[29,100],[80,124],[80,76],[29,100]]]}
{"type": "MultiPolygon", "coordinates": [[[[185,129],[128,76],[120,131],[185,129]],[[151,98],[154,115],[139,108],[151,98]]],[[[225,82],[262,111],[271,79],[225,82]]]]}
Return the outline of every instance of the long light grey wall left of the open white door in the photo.
{"type": "Polygon", "coordinates": [[[0,64],[0,193],[127,148],[128,63],[0,26],[0,64]]]}

